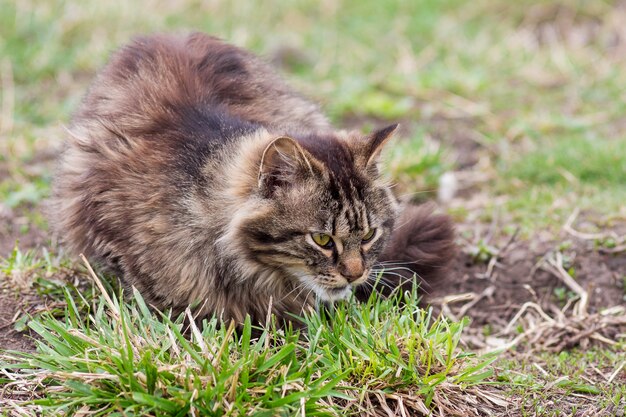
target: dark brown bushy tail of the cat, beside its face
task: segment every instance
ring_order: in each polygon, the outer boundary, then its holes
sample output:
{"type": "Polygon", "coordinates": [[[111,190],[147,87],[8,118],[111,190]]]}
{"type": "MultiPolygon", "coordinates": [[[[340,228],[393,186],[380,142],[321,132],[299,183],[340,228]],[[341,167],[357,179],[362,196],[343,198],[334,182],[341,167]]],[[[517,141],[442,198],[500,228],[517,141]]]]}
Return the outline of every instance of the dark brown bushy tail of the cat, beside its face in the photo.
{"type": "MultiPolygon", "coordinates": [[[[376,266],[382,276],[372,278],[379,279],[377,291],[389,295],[417,283],[427,292],[446,273],[456,252],[454,238],[452,219],[436,214],[434,205],[405,206],[376,266]]],[[[363,285],[357,294],[364,298],[370,292],[371,286],[363,285]]]]}

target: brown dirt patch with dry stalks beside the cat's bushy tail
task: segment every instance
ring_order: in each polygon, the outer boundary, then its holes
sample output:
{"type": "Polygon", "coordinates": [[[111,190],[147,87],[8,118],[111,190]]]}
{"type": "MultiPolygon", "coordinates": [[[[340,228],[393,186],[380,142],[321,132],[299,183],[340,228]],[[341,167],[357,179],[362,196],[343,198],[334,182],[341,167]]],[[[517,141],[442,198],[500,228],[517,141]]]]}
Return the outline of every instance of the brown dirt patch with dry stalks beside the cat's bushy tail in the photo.
{"type": "MultiPolygon", "coordinates": [[[[609,235],[623,240],[619,229],[624,227],[595,235],[574,231],[532,240],[513,236],[491,244],[466,242],[452,272],[424,289],[425,300],[451,317],[468,316],[476,334],[513,334],[513,326],[520,324],[517,321],[525,311],[533,311],[538,320],[551,318],[555,323],[562,317],[578,317],[578,325],[589,328],[593,327],[590,317],[610,316],[605,314],[610,307],[624,317],[626,251],[619,244],[605,247],[598,243],[609,235]]],[[[567,324],[576,326],[571,321],[567,324]]],[[[601,336],[610,339],[626,330],[626,321],[598,326],[608,331],[601,336]]],[[[592,334],[551,347],[570,348],[586,342],[592,334]]],[[[472,338],[474,347],[488,347],[486,339],[472,338]]]]}

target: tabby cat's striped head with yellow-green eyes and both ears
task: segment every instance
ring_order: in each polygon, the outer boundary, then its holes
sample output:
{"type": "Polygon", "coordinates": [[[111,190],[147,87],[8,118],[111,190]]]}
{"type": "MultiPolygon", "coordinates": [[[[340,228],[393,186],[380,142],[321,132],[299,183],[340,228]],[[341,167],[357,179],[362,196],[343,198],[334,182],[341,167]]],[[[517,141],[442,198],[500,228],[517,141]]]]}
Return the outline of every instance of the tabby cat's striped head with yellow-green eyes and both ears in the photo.
{"type": "Polygon", "coordinates": [[[238,225],[248,258],[325,301],[365,283],[396,216],[377,167],[396,128],[273,139],[258,163],[253,213],[238,225]]]}

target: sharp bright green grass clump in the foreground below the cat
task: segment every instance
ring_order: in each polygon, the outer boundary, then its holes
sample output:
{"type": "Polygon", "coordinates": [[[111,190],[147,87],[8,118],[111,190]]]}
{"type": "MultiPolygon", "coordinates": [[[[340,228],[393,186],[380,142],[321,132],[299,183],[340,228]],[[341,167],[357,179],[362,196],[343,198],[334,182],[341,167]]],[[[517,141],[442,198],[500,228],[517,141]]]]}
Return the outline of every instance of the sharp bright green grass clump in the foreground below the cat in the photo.
{"type": "Polygon", "coordinates": [[[463,323],[417,308],[415,291],[311,312],[305,333],[277,330],[272,322],[254,329],[249,320],[239,330],[216,319],[189,327],[182,317],[151,311],[137,292],[130,302],[104,290],[91,300],[67,289],[64,295],[62,317],[46,312],[28,324],[37,352],[5,357],[9,378],[0,382],[13,394],[35,395],[15,410],[340,415],[357,412],[364,398],[379,402],[377,396],[393,393],[420,412],[445,405],[445,392],[467,390],[492,374],[494,358],[459,349],[463,323]]]}

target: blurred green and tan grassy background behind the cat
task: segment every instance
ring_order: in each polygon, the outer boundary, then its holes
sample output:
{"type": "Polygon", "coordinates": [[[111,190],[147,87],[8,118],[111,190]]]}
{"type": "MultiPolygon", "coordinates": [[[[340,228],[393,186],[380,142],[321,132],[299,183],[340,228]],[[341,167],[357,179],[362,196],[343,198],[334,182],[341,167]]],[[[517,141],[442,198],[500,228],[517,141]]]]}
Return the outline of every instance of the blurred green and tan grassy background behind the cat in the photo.
{"type": "Polygon", "coordinates": [[[45,230],[63,126],[109,53],[185,30],[263,55],[340,127],[399,121],[398,189],[431,198],[454,172],[461,222],[626,215],[624,1],[0,0],[5,223],[45,230]]]}

